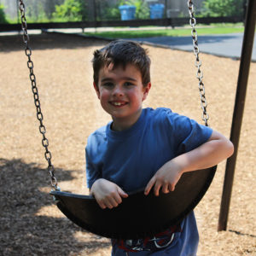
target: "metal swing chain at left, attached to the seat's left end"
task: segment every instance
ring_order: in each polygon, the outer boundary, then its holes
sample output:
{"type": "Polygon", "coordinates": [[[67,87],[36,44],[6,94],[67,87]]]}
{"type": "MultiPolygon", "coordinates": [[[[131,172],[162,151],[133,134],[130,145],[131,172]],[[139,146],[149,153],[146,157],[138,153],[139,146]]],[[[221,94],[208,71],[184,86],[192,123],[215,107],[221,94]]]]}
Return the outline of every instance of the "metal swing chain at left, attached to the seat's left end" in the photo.
{"type": "Polygon", "coordinates": [[[41,111],[41,104],[39,101],[39,95],[38,95],[38,87],[36,84],[36,76],[33,72],[33,62],[31,59],[31,55],[32,55],[32,49],[29,46],[29,36],[27,34],[27,25],[26,25],[26,15],[25,15],[25,4],[23,3],[22,0],[19,0],[19,8],[20,8],[20,20],[21,20],[21,28],[23,31],[23,42],[26,44],[26,49],[25,49],[25,54],[28,58],[27,61],[27,67],[29,68],[29,78],[31,80],[32,83],[32,93],[33,93],[33,97],[34,97],[34,103],[35,106],[37,108],[37,118],[38,121],[40,122],[39,125],[39,131],[43,136],[42,139],[42,144],[43,147],[45,148],[45,153],[44,153],[44,157],[48,162],[48,172],[50,175],[50,182],[51,182],[51,186],[53,188],[55,188],[55,190],[59,190],[58,186],[57,186],[57,180],[55,178],[55,169],[54,166],[51,163],[51,153],[49,152],[48,146],[49,146],[49,141],[48,139],[45,137],[45,133],[46,133],[46,129],[45,126],[43,124],[43,113],[41,111]]]}

